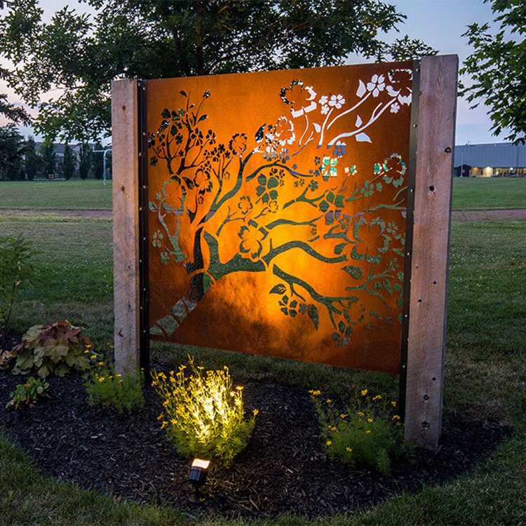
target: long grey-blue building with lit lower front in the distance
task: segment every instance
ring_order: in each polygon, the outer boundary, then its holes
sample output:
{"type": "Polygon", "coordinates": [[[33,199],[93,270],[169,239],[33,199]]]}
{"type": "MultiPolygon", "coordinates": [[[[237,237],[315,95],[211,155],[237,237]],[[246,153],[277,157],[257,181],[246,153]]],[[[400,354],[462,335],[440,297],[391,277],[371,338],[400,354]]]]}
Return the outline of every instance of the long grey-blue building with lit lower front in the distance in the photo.
{"type": "Polygon", "coordinates": [[[526,146],[463,144],[454,147],[455,177],[526,177],[526,146]]]}

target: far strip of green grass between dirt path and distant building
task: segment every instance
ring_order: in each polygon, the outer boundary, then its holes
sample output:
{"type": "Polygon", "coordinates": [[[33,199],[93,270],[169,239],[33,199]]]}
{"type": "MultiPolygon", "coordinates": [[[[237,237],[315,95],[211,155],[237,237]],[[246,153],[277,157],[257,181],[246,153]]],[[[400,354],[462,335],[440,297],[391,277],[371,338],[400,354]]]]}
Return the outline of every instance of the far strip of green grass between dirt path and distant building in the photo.
{"type": "Polygon", "coordinates": [[[453,210],[526,208],[526,177],[454,177],[453,210]]]}

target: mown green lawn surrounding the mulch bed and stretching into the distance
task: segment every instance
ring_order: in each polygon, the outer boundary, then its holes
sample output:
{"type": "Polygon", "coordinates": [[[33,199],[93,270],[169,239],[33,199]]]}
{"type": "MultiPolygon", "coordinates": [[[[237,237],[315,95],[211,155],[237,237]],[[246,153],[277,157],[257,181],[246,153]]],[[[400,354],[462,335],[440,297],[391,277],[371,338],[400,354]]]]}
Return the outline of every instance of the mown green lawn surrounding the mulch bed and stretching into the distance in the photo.
{"type": "MultiPolygon", "coordinates": [[[[85,182],[68,183],[80,186],[85,182]]],[[[51,187],[58,183],[32,184],[51,187]]],[[[520,188],[523,192],[526,187],[525,180],[517,179],[455,180],[455,208],[466,193],[471,195],[469,208],[473,210],[509,208],[485,204],[489,188],[486,184],[497,184],[490,192],[492,204],[511,201],[515,193],[520,194],[520,188]]],[[[0,184],[2,201],[6,188],[0,184]]],[[[6,196],[6,201],[15,203],[15,198],[6,196]]],[[[88,335],[97,342],[111,341],[110,218],[62,217],[34,206],[24,213],[1,212],[0,232],[23,232],[41,250],[34,261],[34,285],[23,292],[15,307],[16,329],[68,318],[86,327],[88,335]]],[[[525,524],[525,290],[526,220],[452,222],[445,419],[457,413],[487,422],[497,420],[511,424],[515,434],[473,473],[445,485],[425,487],[416,495],[403,494],[372,510],[352,516],[336,515],[312,524],[525,524]]],[[[184,359],[187,351],[182,347],[156,346],[157,353],[175,363],[184,359]]],[[[353,384],[396,392],[396,378],[389,375],[291,365],[287,360],[241,353],[191,351],[207,367],[228,365],[238,377],[267,377],[335,394],[346,392],[353,384]]],[[[196,521],[171,508],[138,506],[43,478],[27,456],[0,435],[0,524],[19,523],[139,525],[196,521]]],[[[210,519],[200,523],[230,522],[210,519]]],[[[304,525],[306,521],[287,515],[257,524],[304,525]]]]}

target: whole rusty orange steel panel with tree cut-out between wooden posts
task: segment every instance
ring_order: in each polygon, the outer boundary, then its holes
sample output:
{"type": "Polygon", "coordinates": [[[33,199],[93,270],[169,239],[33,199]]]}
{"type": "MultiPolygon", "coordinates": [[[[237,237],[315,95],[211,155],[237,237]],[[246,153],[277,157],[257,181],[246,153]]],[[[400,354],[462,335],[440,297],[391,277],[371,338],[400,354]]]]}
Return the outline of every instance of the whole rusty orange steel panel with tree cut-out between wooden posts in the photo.
{"type": "Polygon", "coordinates": [[[411,68],[148,81],[152,339],[399,372],[411,68]]]}

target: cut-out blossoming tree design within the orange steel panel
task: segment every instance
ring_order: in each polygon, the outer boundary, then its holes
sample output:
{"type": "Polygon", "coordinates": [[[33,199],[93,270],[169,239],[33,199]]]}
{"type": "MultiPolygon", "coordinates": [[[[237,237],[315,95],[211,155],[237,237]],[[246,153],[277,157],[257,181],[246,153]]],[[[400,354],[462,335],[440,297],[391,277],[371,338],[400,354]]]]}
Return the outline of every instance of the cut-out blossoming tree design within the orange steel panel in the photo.
{"type": "Polygon", "coordinates": [[[188,291],[152,332],[171,337],[217,280],[238,271],[271,271],[275,285],[268,292],[277,296],[283,316],[308,316],[317,330],[325,311],[335,346],[349,344],[358,324],[398,323],[397,309],[381,316],[362,299],[401,306],[405,161],[393,152],[358,180],[346,141],[372,142],[369,128],[388,110],[396,114],[410,103],[410,81],[405,69],[359,80],[351,104],[341,94],[319,95],[315,86],[293,80],[279,90],[283,116],[236,130],[223,142],[205,112],[213,93],[205,90],[192,102],[194,95],[181,91],[180,107],[164,109],[149,135],[152,169],[166,168],[149,210],[156,224],[151,257],[167,266],[184,264],[188,291]],[[376,102],[372,110],[364,104],[369,99],[376,102]],[[342,122],[353,126],[342,131],[342,122]],[[308,144],[317,154],[304,155],[312,151],[308,144]],[[400,213],[386,222],[382,209],[400,213]],[[338,295],[317,289],[308,272],[276,262],[292,250],[343,272],[353,285],[338,295]]]}

